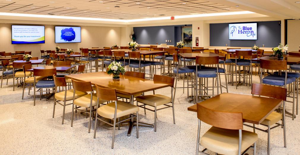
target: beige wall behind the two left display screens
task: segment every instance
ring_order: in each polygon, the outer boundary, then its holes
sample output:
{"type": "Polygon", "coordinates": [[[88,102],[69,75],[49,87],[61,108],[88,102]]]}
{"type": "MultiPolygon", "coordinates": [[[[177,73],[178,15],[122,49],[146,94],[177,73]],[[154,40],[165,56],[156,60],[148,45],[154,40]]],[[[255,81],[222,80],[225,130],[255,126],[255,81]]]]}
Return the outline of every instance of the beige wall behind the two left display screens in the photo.
{"type": "Polygon", "coordinates": [[[11,25],[0,23],[0,51],[32,51],[41,56],[40,50],[55,50],[56,46],[79,51],[80,47],[104,47],[121,44],[121,27],[81,26],[81,43],[55,43],[54,25],[45,25],[45,44],[11,44],[11,25]]]}

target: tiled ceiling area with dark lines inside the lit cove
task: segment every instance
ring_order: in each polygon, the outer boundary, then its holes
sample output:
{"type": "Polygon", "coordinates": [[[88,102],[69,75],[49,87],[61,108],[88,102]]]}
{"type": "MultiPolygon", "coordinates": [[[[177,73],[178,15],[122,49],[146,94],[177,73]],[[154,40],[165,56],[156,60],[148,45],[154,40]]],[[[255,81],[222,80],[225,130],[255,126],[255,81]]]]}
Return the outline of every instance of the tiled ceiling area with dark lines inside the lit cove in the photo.
{"type": "Polygon", "coordinates": [[[141,19],[243,11],[206,0],[0,0],[0,12],[141,19]]]}

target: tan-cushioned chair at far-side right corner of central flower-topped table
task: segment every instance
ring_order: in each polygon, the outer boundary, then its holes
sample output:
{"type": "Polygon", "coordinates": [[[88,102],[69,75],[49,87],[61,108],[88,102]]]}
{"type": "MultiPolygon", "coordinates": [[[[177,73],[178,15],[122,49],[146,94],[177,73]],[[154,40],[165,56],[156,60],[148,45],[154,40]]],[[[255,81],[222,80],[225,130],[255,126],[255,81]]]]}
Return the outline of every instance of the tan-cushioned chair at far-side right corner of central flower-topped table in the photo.
{"type": "MultiPolygon", "coordinates": [[[[158,95],[158,94],[153,94],[153,95],[145,95],[145,96],[137,96],[137,106],[147,109],[149,111],[154,112],[154,131],[156,132],[156,118],[157,118],[157,113],[156,111],[162,110],[165,108],[172,108],[173,109],[173,123],[175,124],[175,114],[174,114],[174,100],[173,98],[173,87],[174,87],[174,77],[167,77],[167,76],[161,76],[161,75],[154,75],[153,81],[163,82],[163,83],[168,83],[171,84],[171,97],[164,96],[164,95],[158,95]],[[138,103],[143,103],[143,105],[138,105],[138,103]],[[172,103],[172,105],[168,105],[168,103],[172,103]],[[146,108],[145,106],[151,106],[154,107],[155,110],[146,108]],[[158,106],[164,105],[164,108],[157,109],[158,106]]],[[[146,114],[146,111],[145,111],[146,114]]]]}

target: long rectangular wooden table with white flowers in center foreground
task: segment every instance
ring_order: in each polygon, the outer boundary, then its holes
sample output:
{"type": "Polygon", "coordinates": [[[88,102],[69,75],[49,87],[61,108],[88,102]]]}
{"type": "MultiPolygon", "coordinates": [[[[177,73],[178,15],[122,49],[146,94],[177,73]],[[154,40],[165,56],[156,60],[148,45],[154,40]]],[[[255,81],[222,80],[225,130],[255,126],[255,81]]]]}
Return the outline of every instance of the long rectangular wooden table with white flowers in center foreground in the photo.
{"type": "MultiPolygon", "coordinates": [[[[126,75],[120,75],[120,80],[113,80],[113,76],[108,75],[106,72],[93,72],[85,74],[72,74],[65,77],[72,78],[79,81],[91,81],[92,85],[100,85],[104,88],[116,89],[116,92],[130,95],[129,102],[133,104],[134,94],[144,93],[160,88],[170,87],[172,84],[152,81],[147,79],[141,79],[137,77],[131,77],[126,75]]],[[[136,122],[131,120],[129,122],[128,136],[131,134],[132,127],[136,125],[136,122]]],[[[139,125],[154,127],[152,124],[142,123],[139,121],[139,125]]]]}

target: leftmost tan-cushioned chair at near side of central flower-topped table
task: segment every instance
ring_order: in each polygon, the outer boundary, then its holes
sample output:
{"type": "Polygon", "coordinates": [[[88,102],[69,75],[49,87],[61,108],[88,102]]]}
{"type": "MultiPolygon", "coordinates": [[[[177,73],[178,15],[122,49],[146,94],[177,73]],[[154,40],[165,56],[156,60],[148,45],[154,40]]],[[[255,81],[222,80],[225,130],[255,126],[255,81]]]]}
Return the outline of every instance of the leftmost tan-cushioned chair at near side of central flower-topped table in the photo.
{"type": "Polygon", "coordinates": [[[73,99],[78,99],[79,97],[85,96],[88,93],[86,92],[80,92],[80,91],[74,91],[73,89],[67,90],[67,83],[64,77],[56,77],[53,75],[53,80],[55,84],[55,95],[54,95],[54,104],[53,104],[53,115],[52,118],[54,118],[54,112],[55,112],[55,105],[58,103],[59,105],[62,105],[63,113],[62,113],[62,123],[64,124],[64,111],[66,108],[66,105],[72,105],[73,103],[66,104],[66,101],[70,101],[73,99]],[[64,90],[61,92],[57,92],[57,87],[63,87],[64,90]],[[60,103],[59,101],[62,101],[63,103],[60,103]]]}

